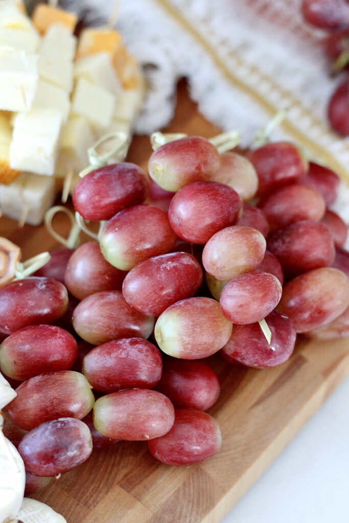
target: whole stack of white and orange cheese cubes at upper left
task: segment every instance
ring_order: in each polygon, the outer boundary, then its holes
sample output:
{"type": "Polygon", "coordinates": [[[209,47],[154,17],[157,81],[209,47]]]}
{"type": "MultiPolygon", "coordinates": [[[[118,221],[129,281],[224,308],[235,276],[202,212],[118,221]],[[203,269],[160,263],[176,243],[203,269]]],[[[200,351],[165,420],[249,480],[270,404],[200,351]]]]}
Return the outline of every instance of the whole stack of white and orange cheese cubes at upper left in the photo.
{"type": "Polygon", "coordinates": [[[131,135],[142,103],[142,76],[119,33],[89,28],[77,41],[76,21],[46,4],[30,19],[18,1],[0,2],[0,205],[31,224],[98,138],[131,135]]]}

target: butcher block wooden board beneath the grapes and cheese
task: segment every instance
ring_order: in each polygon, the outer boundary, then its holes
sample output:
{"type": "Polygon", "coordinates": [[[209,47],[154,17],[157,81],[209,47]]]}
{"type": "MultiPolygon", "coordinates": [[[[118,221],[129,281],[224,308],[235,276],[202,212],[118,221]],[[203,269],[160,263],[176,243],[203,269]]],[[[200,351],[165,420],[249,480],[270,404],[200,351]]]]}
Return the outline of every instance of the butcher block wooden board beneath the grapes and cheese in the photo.
{"type": "MultiPolygon", "coordinates": [[[[184,83],[168,130],[205,137],[219,132],[198,114],[184,83]]],[[[137,137],[128,159],[146,168],[150,153],[148,138],[137,137]]],[[[63,215],[55,220],[56,228],[68,230],[63,215]]],[[[0,235],[22,247],[23,259],[56,246],[43,227],[18,229],[6,218],[0,235]]],[[[208,362],[221,383],[209,411],[222,432],[216,456],[167,467],[153,459],[145,442],[123,441],[94,451],[33,497],[68,523],[219,523],[349,374],[349,339],[320,343],[300,337],[291,358],[274,369],[229,366],[216,355],[208,362]]]]}

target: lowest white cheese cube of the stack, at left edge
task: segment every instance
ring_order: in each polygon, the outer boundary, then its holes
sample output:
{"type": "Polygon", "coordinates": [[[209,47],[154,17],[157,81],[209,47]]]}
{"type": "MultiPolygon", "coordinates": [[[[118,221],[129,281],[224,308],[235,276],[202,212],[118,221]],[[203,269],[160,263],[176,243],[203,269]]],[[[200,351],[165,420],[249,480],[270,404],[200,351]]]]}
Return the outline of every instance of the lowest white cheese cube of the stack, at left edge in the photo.
{"type": "Polygon", "coordinates": [[[26,223],[39,225],[55,199],[55,182],[51,176],[21,173],[9,186],[0,187],[3,213],[13,220],[25,216],[26,223]]]}

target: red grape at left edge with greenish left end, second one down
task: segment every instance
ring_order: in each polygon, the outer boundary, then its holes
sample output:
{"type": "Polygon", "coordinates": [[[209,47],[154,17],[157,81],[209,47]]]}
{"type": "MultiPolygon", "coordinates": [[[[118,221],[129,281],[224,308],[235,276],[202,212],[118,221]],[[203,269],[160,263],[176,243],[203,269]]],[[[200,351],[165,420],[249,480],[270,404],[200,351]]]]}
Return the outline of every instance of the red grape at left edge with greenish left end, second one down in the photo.
{"type": "Polygon", "coordinates": [[[77,357],[74,337],[55,325],[30,325],[0,345],[0,368],[25,381],[42,372],[69,370],[77,357]]]}

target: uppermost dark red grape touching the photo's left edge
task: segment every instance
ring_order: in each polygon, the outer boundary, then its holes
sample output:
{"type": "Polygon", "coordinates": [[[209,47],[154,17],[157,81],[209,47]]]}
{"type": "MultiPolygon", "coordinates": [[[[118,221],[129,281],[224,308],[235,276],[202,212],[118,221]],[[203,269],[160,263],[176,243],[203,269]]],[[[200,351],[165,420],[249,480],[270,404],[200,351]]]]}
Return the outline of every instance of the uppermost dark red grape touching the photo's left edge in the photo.
{"type": "Polygon", "coordinates": [[[58,320],[68,306],[64,285],[52,278],[25,278],[0,289],[0,332],[58,320]]]}

